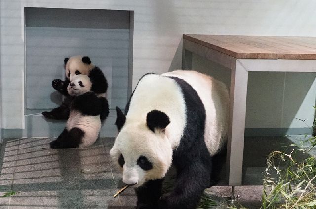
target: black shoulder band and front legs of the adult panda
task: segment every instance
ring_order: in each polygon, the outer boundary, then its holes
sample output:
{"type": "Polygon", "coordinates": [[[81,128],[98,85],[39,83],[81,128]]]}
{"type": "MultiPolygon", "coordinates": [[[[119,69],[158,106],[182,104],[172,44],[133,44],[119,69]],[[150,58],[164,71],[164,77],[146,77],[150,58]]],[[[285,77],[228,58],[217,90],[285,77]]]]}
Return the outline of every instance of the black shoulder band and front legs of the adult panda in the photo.
{"type": "Polygon", "coordinates": [[[137,190],[139,209],[195,209],[206,188],[211,184],[212,158],[204,142],[206,112],[197,92],[184,80],[174,78],[182,89],[187,121],[180,144],[173,151],[172,162],[177,169],[173,191],[156,197],[160,185],[145,185],[137,190]],[[153,187],[153,188],[152,188],[153,187]],[[149,202],[152,200],[156,202],[149,202]]]}

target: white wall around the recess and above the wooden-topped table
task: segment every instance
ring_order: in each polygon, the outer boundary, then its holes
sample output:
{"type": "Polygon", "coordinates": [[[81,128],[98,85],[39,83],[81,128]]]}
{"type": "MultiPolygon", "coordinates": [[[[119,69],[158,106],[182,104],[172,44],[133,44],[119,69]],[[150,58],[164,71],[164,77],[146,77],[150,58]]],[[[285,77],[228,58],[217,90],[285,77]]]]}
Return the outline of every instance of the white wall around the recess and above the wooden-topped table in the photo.
{"type": "Polygon", "coordinates": [[[316,36],[314,0],[1,0],[4,128],[21,128],[24,123],[26,6],[135,11],[133,87],[146,72],[181,67],[184,33],[316,36]]]}

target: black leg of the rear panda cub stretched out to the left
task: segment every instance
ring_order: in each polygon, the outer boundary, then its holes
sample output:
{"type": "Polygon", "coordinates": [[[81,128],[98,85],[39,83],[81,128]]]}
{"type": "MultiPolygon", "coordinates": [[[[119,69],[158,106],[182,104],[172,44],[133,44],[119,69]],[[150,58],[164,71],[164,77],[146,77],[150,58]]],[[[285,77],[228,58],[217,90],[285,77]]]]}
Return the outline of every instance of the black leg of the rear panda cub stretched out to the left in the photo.
{"type": "Polygon", "coordinates": [[[54,108],[50,112],[42,112],[43,116],[47,119],[58,119],[58,120],[67,120],[70,114],[70,104],[73,100],[73,97],[66,97],[64,102],[59,106],[54,108]]]}

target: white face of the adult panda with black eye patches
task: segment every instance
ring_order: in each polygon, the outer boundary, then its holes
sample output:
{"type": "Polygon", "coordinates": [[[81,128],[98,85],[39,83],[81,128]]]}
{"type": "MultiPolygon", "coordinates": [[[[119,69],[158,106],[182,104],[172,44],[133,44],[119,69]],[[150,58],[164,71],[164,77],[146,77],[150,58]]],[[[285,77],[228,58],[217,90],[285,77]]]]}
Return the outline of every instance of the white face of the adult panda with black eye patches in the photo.
{"type": "Polygon", "coordinates": [[[126,119],[110,151],[113,162],[123,172],[125,184],[138,187],[165,176],[172,163],[172,148],[164,128],[150,127],[148,121],[130,123],[126,119]]]}

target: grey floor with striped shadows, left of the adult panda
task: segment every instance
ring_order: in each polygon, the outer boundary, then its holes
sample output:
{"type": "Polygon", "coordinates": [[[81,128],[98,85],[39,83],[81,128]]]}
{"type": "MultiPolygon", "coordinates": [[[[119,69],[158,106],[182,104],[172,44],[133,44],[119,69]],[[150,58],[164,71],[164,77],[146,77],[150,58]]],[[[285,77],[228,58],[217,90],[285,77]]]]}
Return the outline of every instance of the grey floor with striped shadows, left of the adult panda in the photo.
{"type": "Polygon", "coordinates": [[[1,147],[2,191],[19,191],[0,199],[10,209],[133,209],[135,193],[122,186],[110,161],[113,138],[84,149],[50,149],[48,138],[7,139],[1,147]]]}

